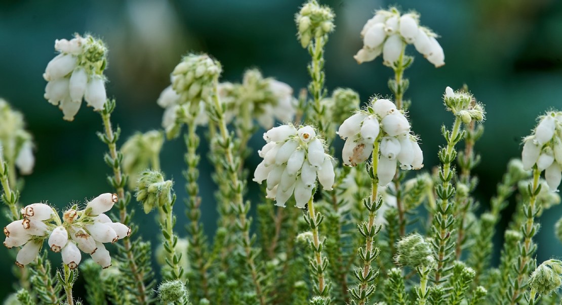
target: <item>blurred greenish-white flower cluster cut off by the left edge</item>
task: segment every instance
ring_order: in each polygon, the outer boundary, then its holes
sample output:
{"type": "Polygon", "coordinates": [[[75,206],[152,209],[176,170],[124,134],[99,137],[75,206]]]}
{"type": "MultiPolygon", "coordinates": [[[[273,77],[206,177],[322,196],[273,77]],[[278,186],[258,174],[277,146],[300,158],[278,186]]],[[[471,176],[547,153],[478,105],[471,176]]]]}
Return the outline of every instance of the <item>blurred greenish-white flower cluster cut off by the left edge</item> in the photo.
{"type": "Polygon", "coordinates": [[[0,154],[8,162],[14,162],[21,174],[33,172],[33,138],[24,128],[23,115],[12,110],[10,104],[0,99],[0,154]]]}

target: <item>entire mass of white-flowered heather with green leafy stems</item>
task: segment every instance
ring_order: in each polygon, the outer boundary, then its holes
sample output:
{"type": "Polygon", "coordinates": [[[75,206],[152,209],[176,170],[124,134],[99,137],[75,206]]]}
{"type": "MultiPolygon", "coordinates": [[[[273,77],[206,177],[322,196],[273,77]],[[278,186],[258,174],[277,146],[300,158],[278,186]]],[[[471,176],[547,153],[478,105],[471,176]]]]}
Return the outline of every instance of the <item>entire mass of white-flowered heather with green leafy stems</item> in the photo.
{"type": "MultiPolygon", "coordinates": [[[[257,68],[239,83],[225,82],[219,58],[188,53],[155,101],[164,108],[162,129],[124,142],[111,117],[119,101],[106,93],[105,44],[92,35],[56,40],[58,54],[43,75],[44,98],[66,121],[83,99],[101,116],[97,136],[107,145],[109,186],[99,196],[84,194],[91,199],[71,202],[62,214],[48,198],[21,202],[18,174],[33,170],[33,137],[23,115],[0,100],[0,182],[9,220],[3,244],[13,248],[10,259],[21,268],[5,302],[558,303],[562,262],[552,258],[537,266],[536,235],[538,217],[560,202],[562,112],[546,111],[531,135],[521,135],[521,158],[507,164],[496,195],[489,204],[481,199],[478,212],[472,170],[486,158],[477,146],[484,104],[466,86],[443,84],[443,95],[426,105],[451,114],[442,124],[437,156],[424,155],[409,119],[416,97],[405,98],[405,71],[414,63],[407,47],[441,67],[445,52],[437,34],[420,24],[416,12],[376,11],[358,33],[363,47],[349,56],[365,63],[382,54],[393,72],[389,93],[366,99],[337,88],[329,95],[324,50],[335,18],[316,0],[295,15],[298,41],[311,56],[308,90],[295,95],[257,68]],[[200,196],[198,130],[205,131],[214,169],[213,236],[201,220],[201,205],[208,203],[200,196]],[[253,151],[248,143],[256,134],[264,142],[253,151]],[[166,179],[160,151],[180,136],[183,178],[166,179]],[[246,162],[250,155],[262,159],[256,168],[246,162]],[[424,167],[429,159],[438,166],[424,167]],[[176,197],[178,183],[187,197],[176,197]],[[258,196],[248,194],[250,184],[258,196]],[[493,266],[493,237],[511,196],[516,212],[501,233],[499,264],[493,266]],[[156,223],[135,223],[135,210],[152,214],[156,223]],[[185,229],[176,225],[180,218],[188,220],[185,229]],[[159,228],[158,244],[143,241],[140,225],[159,228]],[[60,253],[62,264],[48,252],[60,253]],[[90,257],[83,260],[82,252],[90,257]],[[79,277],[84,295],[75,293],[79,277]]],[[[553,229],[562,239],[562,219],[553,229]]]]}

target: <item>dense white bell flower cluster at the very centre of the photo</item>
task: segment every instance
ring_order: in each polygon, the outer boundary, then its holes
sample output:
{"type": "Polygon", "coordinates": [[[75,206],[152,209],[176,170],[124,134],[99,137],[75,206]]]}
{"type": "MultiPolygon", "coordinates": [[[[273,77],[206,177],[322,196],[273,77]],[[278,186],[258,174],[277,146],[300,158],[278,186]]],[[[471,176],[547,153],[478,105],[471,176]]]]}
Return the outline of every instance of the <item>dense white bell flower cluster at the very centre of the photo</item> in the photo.
{"type": "Polygon", "coordinates": [[[258,151],[264,160],[257,165],[253,181],[267,179],[268,198],[285,206],[294,192],[297,207],[305,207],[312,196],[316,178],[325,190],[332,190],[334,165],[325,153],[324,142],[314,128],[298,130],[291,124],[271,128],[264,133],[267,144],[258,151]]]}

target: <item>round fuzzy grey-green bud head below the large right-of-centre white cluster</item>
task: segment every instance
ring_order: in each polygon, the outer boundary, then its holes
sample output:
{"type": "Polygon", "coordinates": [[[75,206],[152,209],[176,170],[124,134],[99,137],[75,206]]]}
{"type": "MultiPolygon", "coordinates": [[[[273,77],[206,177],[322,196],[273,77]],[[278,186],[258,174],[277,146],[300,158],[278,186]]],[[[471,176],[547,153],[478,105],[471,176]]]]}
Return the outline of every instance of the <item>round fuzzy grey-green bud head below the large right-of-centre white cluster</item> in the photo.
{"type": "Polygon", "coordinates": [[[396,251],[395,260],[401,266],[432,267],[435,262],[431,244],[418,233],[402,237],[396,243],[396,251]]]}

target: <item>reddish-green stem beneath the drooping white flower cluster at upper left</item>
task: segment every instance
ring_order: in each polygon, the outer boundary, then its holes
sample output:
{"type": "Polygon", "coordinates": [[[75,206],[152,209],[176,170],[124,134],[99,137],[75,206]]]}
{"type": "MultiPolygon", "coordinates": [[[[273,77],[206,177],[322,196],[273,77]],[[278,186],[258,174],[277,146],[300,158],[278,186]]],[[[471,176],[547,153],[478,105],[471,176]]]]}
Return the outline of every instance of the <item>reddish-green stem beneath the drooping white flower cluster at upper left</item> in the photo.
{"type": "MultiPolygon", "coordinates": [[[[119,128],[117,128],[117,133],[114,133],[113,129],[111,128],[111,113],[115,109],[115,101],[108,100],[104,106],[104,109],[101,111],[103,127],[105,128],[105,135],[103,135],[103,141],[107,144],[109,149],[110,158],[112,161],[112,168],[114,177],[112,177],[112,183],[114,184],[115,190],[117,192],[117,197],[119,198],[119,202],[117,206],[119,206],[119,216],[120,216],[120,223],[127,224],[129,222],[129,214],[127,212],[126,202],[129,198],[128,194],[125,195],[125,181],[123,179],[123,172],[121,170],[121,162],[120,156],[117,154],[117,139],[119,138],[119,128]]],[[[136,283],[136,288],[138,294],[135,294],[137,297],[137,301],[141,304],[146,304],[148,302],[147,298],[147,289],[144,286],[143,281],[143,274],[140,272],[137,263],[135,262],[134,253],[132,251],[132,244],[130,242],[130,237],[123,239],[123,247],[125,248],[127,262],[129,265],[129,269],[131,271],[131,275],[134,278],[136,283]]]]}

